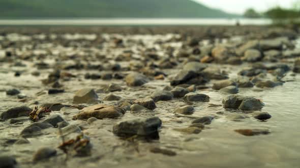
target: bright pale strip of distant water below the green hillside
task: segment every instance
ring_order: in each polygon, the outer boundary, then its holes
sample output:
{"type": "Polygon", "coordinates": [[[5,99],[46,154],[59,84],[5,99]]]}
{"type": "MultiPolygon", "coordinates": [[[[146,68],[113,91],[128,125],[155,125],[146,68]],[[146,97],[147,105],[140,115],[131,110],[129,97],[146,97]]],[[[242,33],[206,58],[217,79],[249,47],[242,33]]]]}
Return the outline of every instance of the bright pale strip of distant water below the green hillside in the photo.
{"type": "Polygon", "coordinates": [[[0,20],[0,25],[267,25],[269,19],[25,19],[0,20]]]}

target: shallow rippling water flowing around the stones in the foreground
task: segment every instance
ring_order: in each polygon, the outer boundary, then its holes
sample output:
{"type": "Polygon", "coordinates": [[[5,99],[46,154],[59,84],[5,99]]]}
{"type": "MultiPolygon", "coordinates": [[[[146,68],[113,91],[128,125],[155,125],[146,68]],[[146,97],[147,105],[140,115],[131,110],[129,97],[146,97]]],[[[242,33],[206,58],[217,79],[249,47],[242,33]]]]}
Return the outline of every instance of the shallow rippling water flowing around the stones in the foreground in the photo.
{"type": "MultiPolygon", "coordinates": [[[[172,36],[172,35],[170,35],[172,36]]],[[[148,41],[148,47],[154,45],[154,41],[159,36],[132,36],[148,41]]],[[[176,46],[176,45],[175,45],[176,46]]],[[[105,46],[104,46],[105,48],[105,46]]],[[[57,47],[58,50],[61,49],[57,47]]],[[[81,50],[81,49],[77,49],[81,50]]],[[[83,49],[82,49],[83,50],[83,49]]],[[[59,50],[62,52],[63,49],[59,50]]],[[[100,50],[101,51],[101,50],[100,50]]],[[[116,53],[118,50],[116,49],[116,53]]],[[[63,52],[64,53],[64,52],[63,52]]],[[[109,56],[108,56],[109,57],[109,56]]],[[[51,62],[53,60],[46,60],[51,62]]],[[[74,92],[81,88],[100,88],[107,83],[103,80],[79,80],[83,78],[85,71],[70,70],[79,78],[64,81],[65,93],[36,96],[37,92],[46,91],[49,87],[41,84],[41,79],[46,78],[51,72],[50,69],[41,70],[41,76],[34,77],[30,73],[33,62],[25,62],[27,67],[10,67],[3,64],[0,69],[0,111],[20,105],[34,107],[33,102],[43,103],[64,103],[72,104],[74,92]],[[29,67],[29,68],[28,68],[29,67]],[[14,70],[23,70],[20,77],[14,77],[14,70]],[[18,88],[32,100],[26,103],[18,102],[15,97],[6,96],[5,90],[18,88]]],[[[122,65],[126,65],[123,62],[122,65]]],[[[209,66],[221,67],[229,71],[230,78],[236,76],[236,73],[243,66],[215,65],[209,66]]],[[[180,68],[180,67],[178,67],[180,68]]],[[[177,69],[164,70],[165,73],[172,75],[177,69]]],[[[89,71],[93,72],[93,71],[89,71]]],[[[95,71],[97,72],[97,71],[95,71]]],[[[268,78],[273,76],[269,75],[268,78]]],[[[222,107],[222,99],[227,95],[214,91],[212,89],[198,90],[197,93],[207,94],[211,97],[208,103],[195,103],[195,112],[189,116],[177,116],[173,111],[176,107],[185,103],[182,99],[171,101],[157,102],[157,108],[151,114],[132,114],[130,111],[118,119],[103,119],[86,125],[86,121],[72,120],[72,117],[78,113],[77,109],[63,108],[61,111],[52,112],[63,116],[68,122],[74,124],[85,124],[87,129],[84,133],[91,137],[94,147],[92,156],[72,158],[65,162],[62,151],[58,151],[58,157],[51,158],[49,162],[32,164],[32,155],[40,147],[51,146],[57,147],[61,139],[54,134],[55,129],[48,129],[49,134],[38,138],[29,138],[31,144],[25,145],[8,145],[7,140],[17,139],[21,130],[30,124],[26,121],[22,124],[9,124],[0,122],[0,152],[2,154],[12,154],[16,156],[21,167],[51,167],[53,163],[57,167],[297,167],[300,157],[300,77],[291,76],[289,72],[283,80],[293,80],[285,82],[283,86],[273,89],[239,89],[239,94],[243,96],[253,96],[262,100],[265,107],[261,111],[266,111],[273,117],[265,122],[251,117],[251,113],[243,113],[236,110],[225,110],[222,107]],[[212,104],[217,106],[211,106],[212,104]],[[245,119],[233,121],[230,117],[234,114],[245,116],[245,119]],[[160,130],[160,139],[153,142],[144,141],[125,141],[112,134],[114,123],[138,116],[158,116],[163,121],[163,127],[160,130]],[[216,118],[212,124],[207,125],[205,130],[200,134],[188,135],[177,132],[176,128],[188,127],[193,118],[212,115],[216,118]],[[268,129],[269,135],[246,137],[235,133],[235,129],[268,129]],[[151,146],[160,146],[177,153],[176,156],[165,156],[149,152],[151,146]],[[138,149],[138,150],[137,150],[138,149]]],[[[115,92],[116,95],[123,99],[144,98],[151,95],[155,90],[162,89],[169,85],[168,79],[163,81],[152,81],[144,87],[130,88],[126,86],[123,80],[110,80],[109,82],[118,83],[124,89],[121,92],[115,92]]],[[[212,86],[211,82],[207,86],[212,86]]],[[[99,99],[102,100],[106,94],[98,93],[99,99]]],[[[104,101],[105,104],[116,104],[116,102],[104,101]]]]}

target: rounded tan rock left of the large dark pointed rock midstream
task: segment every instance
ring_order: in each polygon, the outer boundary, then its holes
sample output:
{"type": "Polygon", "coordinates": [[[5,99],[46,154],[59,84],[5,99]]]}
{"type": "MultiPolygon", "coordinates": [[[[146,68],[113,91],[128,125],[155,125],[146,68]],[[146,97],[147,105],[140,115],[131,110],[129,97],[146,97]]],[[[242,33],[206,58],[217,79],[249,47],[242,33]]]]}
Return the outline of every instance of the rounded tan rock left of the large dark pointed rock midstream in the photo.
{"type": "Polygon", "coordinates": [[[138,87],[147,83],[149,79],[141,73],[132,72],[125,77],[125,81],[128,86],[138,87]]]}

